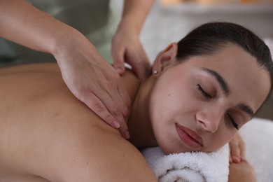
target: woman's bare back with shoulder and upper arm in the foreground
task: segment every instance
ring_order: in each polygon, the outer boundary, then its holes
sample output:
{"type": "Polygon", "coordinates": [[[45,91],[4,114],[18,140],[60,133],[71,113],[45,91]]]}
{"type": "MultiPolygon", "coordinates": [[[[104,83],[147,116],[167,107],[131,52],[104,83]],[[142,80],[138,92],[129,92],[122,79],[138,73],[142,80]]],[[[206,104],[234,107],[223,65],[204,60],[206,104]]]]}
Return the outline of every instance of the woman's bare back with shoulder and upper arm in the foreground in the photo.
{"type": "Polygon", "coordinates": [[[71,94],[56,64],[0,69],[0,84],[0,181],[156,181],[137,148],[71,94]]]}

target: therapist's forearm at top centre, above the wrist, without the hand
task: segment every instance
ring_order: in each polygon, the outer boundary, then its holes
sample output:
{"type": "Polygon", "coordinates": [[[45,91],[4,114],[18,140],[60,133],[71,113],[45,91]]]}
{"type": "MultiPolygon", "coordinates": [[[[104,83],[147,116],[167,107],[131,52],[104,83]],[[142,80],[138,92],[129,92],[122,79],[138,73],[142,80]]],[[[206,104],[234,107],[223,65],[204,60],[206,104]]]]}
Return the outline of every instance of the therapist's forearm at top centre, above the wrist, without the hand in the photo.
{"type": "Polygon", "coordinates": [[[123,18],[120,22],[123,26],[134,29],[140,34],[146,17],[153,7],[154,0],[125,0],[123,18]]]}

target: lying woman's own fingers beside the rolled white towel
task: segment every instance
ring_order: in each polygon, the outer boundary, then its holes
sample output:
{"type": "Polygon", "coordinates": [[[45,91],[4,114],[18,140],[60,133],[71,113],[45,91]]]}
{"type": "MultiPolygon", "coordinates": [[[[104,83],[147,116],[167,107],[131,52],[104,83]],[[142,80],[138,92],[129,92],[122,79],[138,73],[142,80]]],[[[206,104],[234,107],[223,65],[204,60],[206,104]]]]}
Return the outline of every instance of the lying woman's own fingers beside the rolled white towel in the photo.
{"type": "Polygon", "coordinates": [[[233,137],[233,139],[229,143],[230,145],[230,163],[241,162],[246,157],[246,145],[244,144],[243,139],[239,133],[233,137]]]}

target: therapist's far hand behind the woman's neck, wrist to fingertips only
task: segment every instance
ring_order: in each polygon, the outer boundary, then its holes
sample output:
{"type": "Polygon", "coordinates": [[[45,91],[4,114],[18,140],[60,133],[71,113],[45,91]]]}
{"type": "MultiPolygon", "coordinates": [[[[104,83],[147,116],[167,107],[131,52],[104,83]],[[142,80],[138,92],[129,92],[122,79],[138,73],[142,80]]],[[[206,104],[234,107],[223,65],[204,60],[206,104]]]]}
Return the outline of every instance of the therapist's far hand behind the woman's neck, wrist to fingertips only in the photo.
{"type": "Polygon", "coordinates": [[[139,34],[132,29],[120,25],[112,39],[113,66],[120,75],[125,72],[125,62],[132,66],[132,71],[140,80],[144,80],[151,72],[151,62],[139,40],[139,34]]]}

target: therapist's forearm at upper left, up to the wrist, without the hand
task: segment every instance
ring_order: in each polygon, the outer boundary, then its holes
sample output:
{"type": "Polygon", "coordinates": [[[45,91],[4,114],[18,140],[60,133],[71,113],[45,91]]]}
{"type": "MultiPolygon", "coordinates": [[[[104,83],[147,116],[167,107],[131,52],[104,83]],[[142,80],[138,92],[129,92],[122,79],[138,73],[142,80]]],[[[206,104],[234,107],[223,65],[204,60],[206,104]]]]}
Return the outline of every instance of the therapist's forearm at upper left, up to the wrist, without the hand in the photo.
{"type": "Polygon", "coordinates": [[[68,35],[78,34],[27,1],[0,0],[0,36],[28,48],[54,54],[68,35]],[[62,41],[60,41],[62,40],[62,41]]]}

